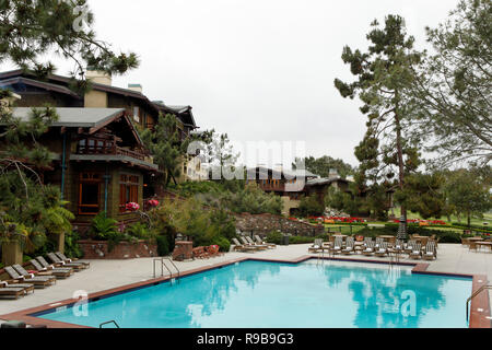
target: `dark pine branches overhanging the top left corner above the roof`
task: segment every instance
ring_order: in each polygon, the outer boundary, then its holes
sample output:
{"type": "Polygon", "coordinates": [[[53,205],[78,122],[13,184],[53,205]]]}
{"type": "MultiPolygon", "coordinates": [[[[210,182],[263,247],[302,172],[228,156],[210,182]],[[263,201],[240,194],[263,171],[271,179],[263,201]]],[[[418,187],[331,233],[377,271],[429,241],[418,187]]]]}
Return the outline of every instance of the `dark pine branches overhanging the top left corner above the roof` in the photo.
{"type": "Polygon", "coordinates": [[[109,74],[138,67],[136,54],[115,52],[96,38],[93,25],[86,0],[2,0],[0,61],[10,59],[42,77],[55,70],[43,58],[58,54],[73,62],[74,81],[83,78],[87,66],[109,74]]]}

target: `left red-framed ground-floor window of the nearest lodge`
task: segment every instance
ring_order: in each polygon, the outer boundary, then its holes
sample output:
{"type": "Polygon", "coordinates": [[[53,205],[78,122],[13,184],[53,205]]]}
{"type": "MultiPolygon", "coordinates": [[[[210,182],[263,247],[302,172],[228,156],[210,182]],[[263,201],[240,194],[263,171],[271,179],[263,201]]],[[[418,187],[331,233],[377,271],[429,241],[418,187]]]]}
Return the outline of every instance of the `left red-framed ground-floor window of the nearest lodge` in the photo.
{"type": "Polygon", "coordinates": [[[82,173],[79,183],[79,214],[94,215],[101,210],[101,174],[82,173]]]}

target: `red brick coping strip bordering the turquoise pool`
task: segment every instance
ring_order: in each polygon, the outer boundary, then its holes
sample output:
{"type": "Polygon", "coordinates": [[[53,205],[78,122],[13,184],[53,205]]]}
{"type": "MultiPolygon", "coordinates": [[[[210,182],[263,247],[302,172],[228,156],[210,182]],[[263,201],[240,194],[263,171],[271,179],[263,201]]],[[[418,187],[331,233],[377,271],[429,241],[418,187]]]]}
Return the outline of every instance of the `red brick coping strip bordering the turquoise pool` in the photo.
{"type": "MultiPolygon", "coordinates": [[[[187,277],[197,275],[204,271],[210,271],[214,269],[219,269],[222,267],[231,266],[236,262],[244,262],[244,261],[266,261],[266,262],[284,262],[284,264],[301,264],[307,260],[312,259],[319,259],[319,257],[315,257],[313,255],[304,255],[298,258],[294,258],[291,260],[286,259],[269,259],[269,258],[255,258],[255,257],[242,257],[236,258],[227,261],[222,261],[219,264],[210,264],[207,266],[202,266],[199,268],[195,268],[191,270],[187,270],[180,273],[180,277],[187,277]]],[[[365,262],[365,264],[383,264],[383,265],[390,265],[391,262],[385,261],[385,260],[370,260],[370,259],[353,259],[353,258],[341,258],[341,257],[323,257],[324,260],[333,260],[333,261],[348,261],[348,262],[365,262]]],[[[466,273],[454,273],[454,272],[441,272],[441,271],[429,271],[427,268],[430,264],[425,262],[394,262],[393,265],[399,265],[399,266],[413,266],[413,269],[411,270],[412,273],[420,273],[420,275],[431,275],[431,276],[447,276],[447,277],[461,277],[461,278],[470,278],[472,279],[472,287],[471,287],[471,293],[475,293],[479,288],[482,285],[485,285],[488,283],[488,279],[485,275],[466,275],[466,273]]],[[[166,283],[169,280],[172,280],[172,277],[162,277],[162,278],[155,278],[150,279],[147,281],[130,283],[99,292],[94,292],[87,295],[87,302],[97,301],[105,298],[110,298],[117,294],[127,293],[133,290],[148,288],[151,285],[156,285],[161,283],[166,283]]],[[[68,323],[61,323],[56,320],[49,320],[39,318],[36,316],[39,316],[42,314],[46,314],[52,310],[56,310],[58,307],[70,307],[73,304],[75,304],[79,300],[77,299],[67,299],[60,302],[54,302],[32,308],[26,308],[23,311],[0,315],[0,319],[4,320],[22,320],[26,324],[33,325],[33,326],[47,326],[48,328],[72,328],[72,329],[94,329],[93,327],[87,326],[81,326],[81,325],[74,325],[74,324],[68,324],[68,323]],[[34,316],[36,315],[36,316],[34,316]]],[[[465,306],[466,301],[464,301],[465,306]]],[[[469,328],[492,328],[492,320],[488,317],[490,317],[490,300],[489,300],[489,293],[487,291],[478,294],[476,298],[471,300],[470,305],[470,314],[469,314],[469,328]]]]}

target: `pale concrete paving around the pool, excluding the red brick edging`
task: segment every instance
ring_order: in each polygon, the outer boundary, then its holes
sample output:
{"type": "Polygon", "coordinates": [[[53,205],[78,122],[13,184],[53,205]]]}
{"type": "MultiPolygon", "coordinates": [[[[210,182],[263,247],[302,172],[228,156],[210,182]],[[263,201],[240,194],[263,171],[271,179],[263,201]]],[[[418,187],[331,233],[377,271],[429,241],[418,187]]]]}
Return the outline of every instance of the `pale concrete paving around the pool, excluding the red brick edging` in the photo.
{"type": "MultiPolygon", "coordinates": [[[[229,253],[224,256],[176,262],[181,271],[196,269],[202,266],[237,259],[245,256],[268,259],[295,259],[307,255],[309,245],[278,246],[277,249],[247,253],[229,253]]],[[[315,256],[315,255],[314,255],[315,256]]],[[[361,258],[361,255],[343,256],[343,258],[361,258]]],[[[387,258],[363,257],[364,259],[388,260],[387,258]]],[[[401,261],[415,261],[401,259],[401,261]]],[[[429,271],[454,273],[480,273],[487,275],[492,281],[492,253],[469,252],[468,248],[456,244],[440,244],[438,258],[430,262],[429,271]]],[[[36,289],[34,294],[21,298],[16,301],[0,300],[0,315],[22,311],[44,304],[51,304],[61,300],[73,298],[77,291],[87,293],[99,292],[130,283],[147,281],[153,278],[153,259],[141,258],[132,260],[91,260],[91,268],[78,272],[67,280],[58,280],[57,284],[44,290],[36,289]]],[[[491,293],[492,298],[492,293],[491,293]]],[[[492,300],[492,299],[491,299],[492,300]]],[[[465,301],[464,301],[465,304],[465,301]]]]}

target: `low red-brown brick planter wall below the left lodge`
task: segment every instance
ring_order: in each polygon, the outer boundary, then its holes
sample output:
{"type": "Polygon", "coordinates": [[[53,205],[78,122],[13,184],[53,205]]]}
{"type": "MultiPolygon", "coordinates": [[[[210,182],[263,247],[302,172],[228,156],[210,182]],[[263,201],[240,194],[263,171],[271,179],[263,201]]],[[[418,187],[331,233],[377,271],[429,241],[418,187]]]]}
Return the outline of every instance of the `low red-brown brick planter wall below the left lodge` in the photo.
{"type": "Polygon", "coordinates": [[[108,242],[104,241],[79,241],[84,259],[134,259],[149,258],[157,256],[157,246],[149,244],[145,241],[137,243],[120,242],[113,247],[112,252],[108,248],[108,242]]]}

